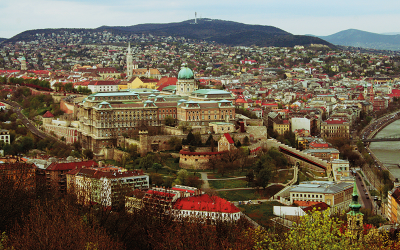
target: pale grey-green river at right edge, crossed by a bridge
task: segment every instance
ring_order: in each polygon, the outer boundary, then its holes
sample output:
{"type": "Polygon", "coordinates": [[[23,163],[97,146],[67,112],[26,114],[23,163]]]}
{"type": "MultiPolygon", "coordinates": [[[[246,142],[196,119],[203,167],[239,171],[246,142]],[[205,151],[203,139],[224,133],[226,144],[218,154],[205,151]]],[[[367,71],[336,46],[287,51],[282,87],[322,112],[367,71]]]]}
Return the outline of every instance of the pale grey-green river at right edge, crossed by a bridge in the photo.
{"type": "MultiPolygon", "coordinates": [[[[400,133],[400,119],[393,121],[380,130],[375,137],[394,135],[400,133]]],[[[370,142],[369,149],[389,169],[389,171],[400,179],[400,141],[370,142]]]]}

